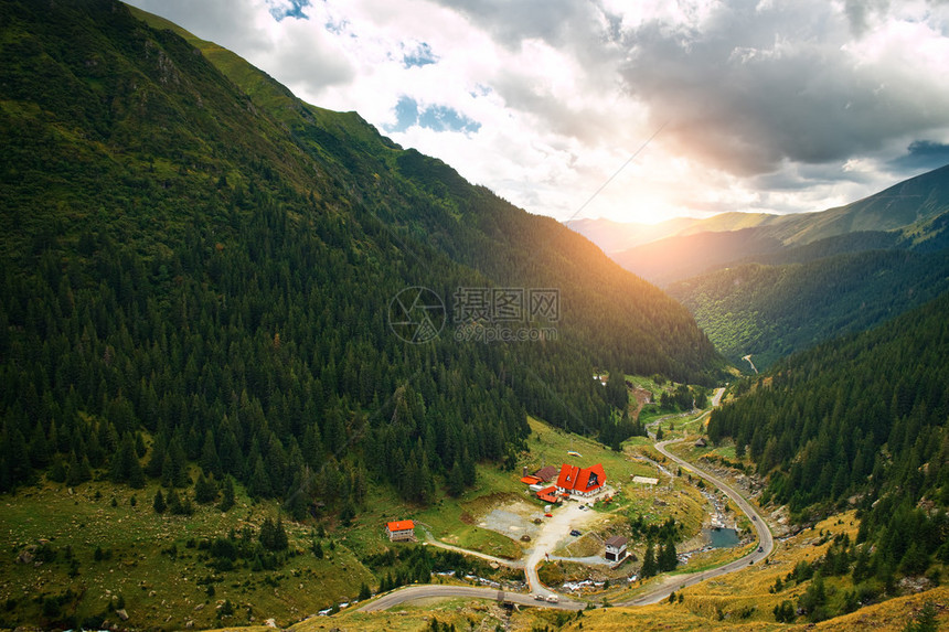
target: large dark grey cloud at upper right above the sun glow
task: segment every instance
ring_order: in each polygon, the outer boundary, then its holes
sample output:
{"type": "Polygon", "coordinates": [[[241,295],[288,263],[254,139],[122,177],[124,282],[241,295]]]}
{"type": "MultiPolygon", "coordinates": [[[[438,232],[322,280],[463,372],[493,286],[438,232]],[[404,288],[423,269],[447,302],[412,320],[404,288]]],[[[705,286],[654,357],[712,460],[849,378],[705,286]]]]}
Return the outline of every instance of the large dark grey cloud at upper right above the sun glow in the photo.
{"type": "Polygon", "coordinates": [[[900,62],[855,60],[849,21],[867,18],[830,7],[737,1],[695,29],[644,23],[628,33],[622,74],[683,150],[742,175],[840,162],[949,125],[941,85],[900,62]]]}

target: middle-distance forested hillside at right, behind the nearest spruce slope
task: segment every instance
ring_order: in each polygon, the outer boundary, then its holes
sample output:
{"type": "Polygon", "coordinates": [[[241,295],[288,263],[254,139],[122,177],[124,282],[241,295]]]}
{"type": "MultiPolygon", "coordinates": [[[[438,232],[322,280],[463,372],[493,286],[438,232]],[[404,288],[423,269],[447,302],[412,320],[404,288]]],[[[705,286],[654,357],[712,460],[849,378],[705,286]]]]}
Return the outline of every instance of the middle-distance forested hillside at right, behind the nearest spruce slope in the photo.
{"type": "Polygon", "coordinates": [[[946,253],[873,250],[808,264],[747,264],[673,283],[715,346],[759,369],[871,329],[949,290],[946,253]]]}

